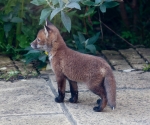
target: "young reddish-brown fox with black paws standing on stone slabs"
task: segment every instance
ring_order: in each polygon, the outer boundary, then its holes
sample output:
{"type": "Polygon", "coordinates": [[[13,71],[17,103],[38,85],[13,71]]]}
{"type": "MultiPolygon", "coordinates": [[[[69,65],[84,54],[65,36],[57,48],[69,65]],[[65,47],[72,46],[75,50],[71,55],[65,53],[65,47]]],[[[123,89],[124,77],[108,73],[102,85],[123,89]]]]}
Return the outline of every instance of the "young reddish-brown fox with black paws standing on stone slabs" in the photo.
{"type": "Polygon", "coordinates": [[[46,20],[31,47],[48,53],[51,68],[55,74],[58,97],[55,102],[63,103],[66,80],[69,82],[70,103],[78,101],[77,83],[85,83],[90,91],[98,95],[95,112],[102,112],[107,103],[116,108],[116,81],[110,65],[101,57],[83,54],[67,47],[58,28],[46,20]]]}

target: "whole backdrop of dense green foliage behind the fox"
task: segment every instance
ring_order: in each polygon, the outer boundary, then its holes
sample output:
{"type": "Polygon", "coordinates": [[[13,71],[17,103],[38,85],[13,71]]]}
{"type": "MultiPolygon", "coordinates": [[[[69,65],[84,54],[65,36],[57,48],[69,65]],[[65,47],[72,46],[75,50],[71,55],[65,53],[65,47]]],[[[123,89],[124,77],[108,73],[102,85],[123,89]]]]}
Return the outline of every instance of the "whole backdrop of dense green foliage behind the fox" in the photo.
{"type": "Polygon", "coordinates": [[[133,45],[150,47],[150,2],[138,1],[137,23],[134,26],[135,13],[129,6],[132,1],[126,1],[128,27],[125,27],[120,16],[121,10],[117,7],[119,3],[113,0],[0,1],[0,51],[14,59],[21,58],[21,55],[29,51],[25,55],[27,63],[45,61],[44,53],[24,50],[36,38],[45,19],[51,20],[59,28],[69,47],[80,52],[95,54],[98,49],[129,47],[99,20],[133,45]]]}

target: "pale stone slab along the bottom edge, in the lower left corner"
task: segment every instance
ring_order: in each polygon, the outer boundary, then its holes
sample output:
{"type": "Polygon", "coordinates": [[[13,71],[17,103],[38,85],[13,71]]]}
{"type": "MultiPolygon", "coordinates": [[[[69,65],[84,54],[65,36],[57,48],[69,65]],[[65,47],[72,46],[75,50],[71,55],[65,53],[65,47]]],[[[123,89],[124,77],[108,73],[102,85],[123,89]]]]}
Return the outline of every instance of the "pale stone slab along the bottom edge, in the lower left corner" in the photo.
{"type": "Polygon", "coordinates": [[[34,114],[0,118],[0,125],[71,125],[63,114],[34,114]]]}

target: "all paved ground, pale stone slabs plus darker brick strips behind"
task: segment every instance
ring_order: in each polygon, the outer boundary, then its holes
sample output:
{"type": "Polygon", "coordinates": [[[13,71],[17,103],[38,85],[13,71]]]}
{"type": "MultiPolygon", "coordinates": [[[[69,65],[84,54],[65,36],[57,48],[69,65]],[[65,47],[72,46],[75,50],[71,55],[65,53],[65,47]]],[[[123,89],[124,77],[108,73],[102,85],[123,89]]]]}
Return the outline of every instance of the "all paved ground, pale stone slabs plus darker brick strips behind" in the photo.
{"type": "MultiPolygon", "coordinates": [[[[150,63],[150,49],[103,50],[117,81],[117,108],[94,112],[98,97],[84,84],[79,84],[79,101],[69,103],[66,86],[64,103],[56,103],[57,84],[53,73],[41,72],[40,78],[14,82],[0,81],[0,125],[149,125],[150,72],[143,72],[150,63]],[[135,69],[132,72],[125,72],[135,69]]],[[[32,65],[12,61],[0,55],[0,79],[12,72],[22,78],[38,73],[32,65]],[[5,75],[6,74],[6,75],[5,75]]]]}

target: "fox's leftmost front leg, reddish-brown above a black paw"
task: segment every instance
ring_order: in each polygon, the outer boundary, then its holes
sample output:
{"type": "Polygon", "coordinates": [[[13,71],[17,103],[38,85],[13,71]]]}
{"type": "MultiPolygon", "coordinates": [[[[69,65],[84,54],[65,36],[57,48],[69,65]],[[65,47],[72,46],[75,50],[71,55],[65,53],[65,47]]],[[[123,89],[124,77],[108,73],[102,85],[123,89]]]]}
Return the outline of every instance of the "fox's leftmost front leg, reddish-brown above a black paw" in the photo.
{"type": "Polygon", "coordinates": [[[64,76],[56,76],[58,85],[58,97],[55,98],[55,102],[61,103],[65,98],[66,78],[64,76]]]}

